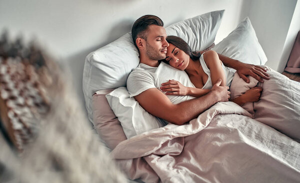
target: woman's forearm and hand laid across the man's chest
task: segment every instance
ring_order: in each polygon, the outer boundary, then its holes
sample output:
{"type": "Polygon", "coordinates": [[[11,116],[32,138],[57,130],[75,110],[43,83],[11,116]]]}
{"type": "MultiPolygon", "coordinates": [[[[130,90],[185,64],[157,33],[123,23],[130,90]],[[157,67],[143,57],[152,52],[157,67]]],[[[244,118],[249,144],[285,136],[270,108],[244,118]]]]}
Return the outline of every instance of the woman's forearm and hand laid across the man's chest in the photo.
{"type": "Polygon", "coordinates": [[[164,82],[161,84],[162,86],[160,89],[162,91],[167,91],[165,94],[167,95],[190,95],[194,97],[200,97],[204,94],[208,93],[210,89],[201,89],[201,88],[195,88],[195,87],[186,87],[183,84],[181,84],[177,80],[168,80],[167,82],[164,82]]]}

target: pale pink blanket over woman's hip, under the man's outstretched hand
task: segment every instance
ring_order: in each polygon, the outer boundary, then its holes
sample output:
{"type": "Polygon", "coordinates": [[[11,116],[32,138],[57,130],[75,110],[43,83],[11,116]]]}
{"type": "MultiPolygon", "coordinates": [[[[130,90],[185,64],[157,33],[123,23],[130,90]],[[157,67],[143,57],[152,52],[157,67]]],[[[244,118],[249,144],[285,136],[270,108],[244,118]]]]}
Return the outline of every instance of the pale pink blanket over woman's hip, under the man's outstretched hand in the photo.
{"type": "Polygon", "coordinates": [[[270,79],[264,79],[263,83],[251,76],[248,76],[250,82],[246,83],[235,73],[230,86],[231,97],[235,98],[256,85],[261,86],[259,100],[242,107],[256,120],[300,142],[300,82],[269,67],[266,69],[270,79]]]}

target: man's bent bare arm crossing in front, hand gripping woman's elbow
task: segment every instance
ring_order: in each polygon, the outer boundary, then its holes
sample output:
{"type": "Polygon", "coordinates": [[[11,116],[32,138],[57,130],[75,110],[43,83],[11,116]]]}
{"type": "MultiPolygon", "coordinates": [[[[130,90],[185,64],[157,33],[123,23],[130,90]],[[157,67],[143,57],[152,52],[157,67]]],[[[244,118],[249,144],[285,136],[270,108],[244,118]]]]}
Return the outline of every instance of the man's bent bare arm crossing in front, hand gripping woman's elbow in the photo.
{"type": "Polygon", "coordinates": [[[181,125],[205,111],[218,101],[228,101],[230,92],[228,86],[219,86],[219,79],[207,94],[173,104],[168,97],[157,88],[147,89],[134,96],[138,103],[154,116],[163,118],[171,123],[181,125]]]}

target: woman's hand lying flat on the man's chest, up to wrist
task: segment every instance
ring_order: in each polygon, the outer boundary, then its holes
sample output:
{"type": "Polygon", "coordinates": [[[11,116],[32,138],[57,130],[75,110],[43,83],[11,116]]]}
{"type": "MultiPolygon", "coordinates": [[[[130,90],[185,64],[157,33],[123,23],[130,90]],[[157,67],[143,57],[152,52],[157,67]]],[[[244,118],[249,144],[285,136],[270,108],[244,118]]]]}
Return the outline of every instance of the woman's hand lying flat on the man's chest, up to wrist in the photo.
{"type": "Polygon", "coordinates": [[[164,82],[161,85],[162,86],[160,87],[160,89],[162,91],[167,91],[165,94],[180,96],[185,96],[189,94],[188,87],[182,85],[179,81],[174,79],[168,80],[167,82],[164,82]]]}

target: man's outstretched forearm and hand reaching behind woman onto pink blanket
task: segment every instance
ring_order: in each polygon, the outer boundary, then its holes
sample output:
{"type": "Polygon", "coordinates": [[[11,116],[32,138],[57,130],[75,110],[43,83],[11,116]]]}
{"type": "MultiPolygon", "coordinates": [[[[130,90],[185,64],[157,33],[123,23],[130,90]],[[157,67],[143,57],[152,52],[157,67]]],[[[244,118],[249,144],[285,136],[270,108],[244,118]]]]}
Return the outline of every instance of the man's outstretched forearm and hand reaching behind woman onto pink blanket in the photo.
{"type": "Polygon", "coordinates": [[[237,71],[238,75],[246,82],[249,82],[249,79],[246,77],[246,75],[254,77],[259,82],[263,82],[262,78],[269,79],[269,74],[266,73],[266,70],[261,66],[243,63],[219,53],[218,56],[224,63],[224,65],[234,68],[237,71]]]}

